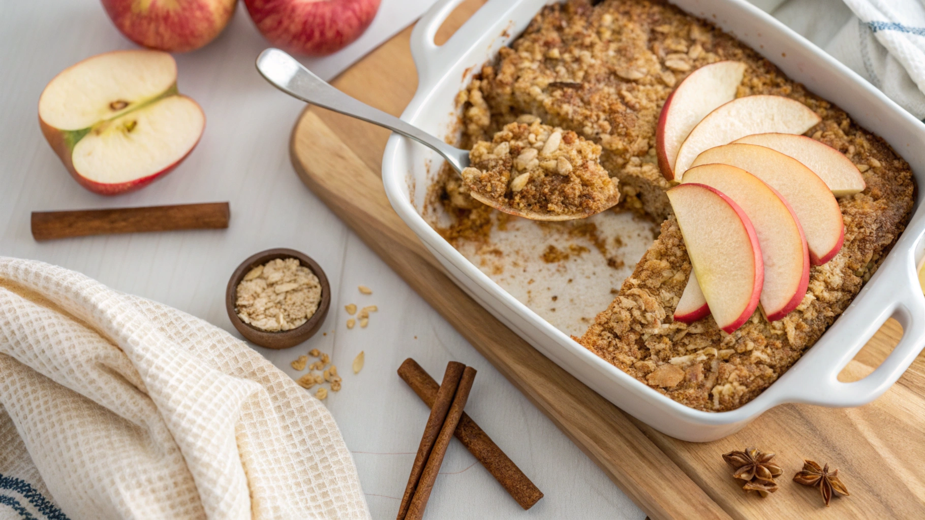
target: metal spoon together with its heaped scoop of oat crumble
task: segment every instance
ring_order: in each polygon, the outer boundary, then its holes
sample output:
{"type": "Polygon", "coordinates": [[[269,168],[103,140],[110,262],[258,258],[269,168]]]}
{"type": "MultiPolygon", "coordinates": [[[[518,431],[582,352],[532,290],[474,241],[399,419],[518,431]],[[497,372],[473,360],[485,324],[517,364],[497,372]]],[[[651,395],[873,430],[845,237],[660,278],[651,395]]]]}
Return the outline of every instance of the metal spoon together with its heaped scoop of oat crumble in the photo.
{"type": "Polygon", "coordinates": [[[459,175],[462,189],[500,212],[537,221],[582,219],[620,200],[617,179],[600,165],[600,145],[538,117],[503,127],[472,151],[450,146],[335,89],[289,54],[266,49],[257,70],[280,91],[306,103],[386,127],[437,151],[459,175]]]}

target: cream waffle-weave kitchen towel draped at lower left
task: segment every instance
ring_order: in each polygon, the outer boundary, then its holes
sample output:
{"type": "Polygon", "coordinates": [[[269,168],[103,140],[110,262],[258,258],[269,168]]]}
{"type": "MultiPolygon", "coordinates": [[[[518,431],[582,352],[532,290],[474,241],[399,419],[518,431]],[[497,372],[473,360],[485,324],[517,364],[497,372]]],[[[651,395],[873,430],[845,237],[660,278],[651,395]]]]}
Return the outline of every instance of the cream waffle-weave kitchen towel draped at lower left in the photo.
{"type": "Polygon", "coordinates": [[[0,519],[369,518],[327,409],[230,334],[0,257],[0,519]]]}

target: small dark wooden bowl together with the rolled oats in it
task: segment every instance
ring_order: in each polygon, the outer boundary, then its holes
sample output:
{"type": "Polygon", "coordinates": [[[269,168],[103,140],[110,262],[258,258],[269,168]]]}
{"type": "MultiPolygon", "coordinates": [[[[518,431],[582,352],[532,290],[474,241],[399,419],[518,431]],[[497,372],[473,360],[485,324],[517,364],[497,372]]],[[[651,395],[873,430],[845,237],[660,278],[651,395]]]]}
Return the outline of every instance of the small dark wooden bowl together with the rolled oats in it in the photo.
{"type": "Polygon", "coordinates": [[[289,348],[321,327],[330,292],[314,260],[294,249],[268,249],[244,260],[228,280],[228,319],[256,345],[289,348]]]}

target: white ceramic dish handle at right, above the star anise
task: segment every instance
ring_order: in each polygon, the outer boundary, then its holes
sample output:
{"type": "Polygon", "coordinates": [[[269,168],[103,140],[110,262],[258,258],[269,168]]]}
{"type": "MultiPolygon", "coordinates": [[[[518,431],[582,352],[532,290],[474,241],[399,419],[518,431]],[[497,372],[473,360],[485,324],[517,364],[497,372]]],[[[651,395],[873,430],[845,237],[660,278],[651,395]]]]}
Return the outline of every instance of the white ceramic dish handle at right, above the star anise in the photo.
{"type": "MultiPolygon", "coordinates": [[[[907,234],[910,231],[907,230],[907,234]]],[[[919,235],[914,233],[908,238],[919,235]]],[[[826,345],[823,349],[810,348],[801,359],[803,366],[792,369],[794,377],[788,378],[791,374],[784,374],[780,382],[784,383],[786,390],[780,395],[781,403],[866,405],[886,392],[903,375],[925,346],[925,296],[919,284],[914,255],[918,248],[902,248],[896,244],[895,252],[899,254],[883,262],[877,272],[879,280],[867,287],[872,294],[856,298],[856,303],[851,306],[854,307],[852,316],[864,318],[843,324],[835,338],[844,341],[826,345]],[[838,381],[842,369],[889,318],[899,321],[903,327],[903,336],[893,352],[864,379],[838,381]]]]}

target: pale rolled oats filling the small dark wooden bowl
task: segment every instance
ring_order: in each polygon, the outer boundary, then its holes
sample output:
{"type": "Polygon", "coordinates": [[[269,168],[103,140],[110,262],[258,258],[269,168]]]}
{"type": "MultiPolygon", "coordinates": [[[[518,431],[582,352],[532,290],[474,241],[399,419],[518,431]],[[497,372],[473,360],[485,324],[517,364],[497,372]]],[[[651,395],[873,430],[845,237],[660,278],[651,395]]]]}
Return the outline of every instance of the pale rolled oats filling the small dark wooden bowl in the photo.
{"type": "Polygon", "coordinates": [[[314,316],[321,284],[298,259],[275,259],[245,274],[236,296],[241,321],[267,332],[290,331],[314,316]]]}

